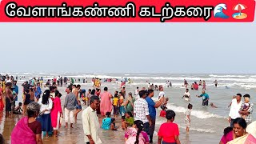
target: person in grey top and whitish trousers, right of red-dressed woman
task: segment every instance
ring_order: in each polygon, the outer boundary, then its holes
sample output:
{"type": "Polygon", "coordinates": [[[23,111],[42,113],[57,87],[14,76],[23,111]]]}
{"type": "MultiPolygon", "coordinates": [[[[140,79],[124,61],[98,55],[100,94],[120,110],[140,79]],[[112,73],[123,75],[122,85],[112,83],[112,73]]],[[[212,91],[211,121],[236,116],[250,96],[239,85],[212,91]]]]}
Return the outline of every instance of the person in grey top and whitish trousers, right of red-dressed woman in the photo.
{"type": "Polygon", "coordinates": [[[64,102],[66,128],[68,126],[69,119],[70,119],[71,128],[73,128],[73,123],[74,123],[74,108],[75,108],[74,106],[76,104],[77,98],[71,91],[72,91],[72,87],[69,86],[66,89],[67,95],[64,102]]]}

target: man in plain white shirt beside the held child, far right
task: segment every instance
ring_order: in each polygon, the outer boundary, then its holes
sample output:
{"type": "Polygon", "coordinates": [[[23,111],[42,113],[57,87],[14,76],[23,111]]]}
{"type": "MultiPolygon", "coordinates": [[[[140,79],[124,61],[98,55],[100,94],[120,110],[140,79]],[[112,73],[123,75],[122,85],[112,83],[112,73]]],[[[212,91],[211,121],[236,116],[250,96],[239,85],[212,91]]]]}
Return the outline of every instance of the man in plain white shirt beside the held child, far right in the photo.
{"type": "Polygon", "coordinates": [[[241,97],[242,94],[237,94],[237,98],[232,100],[229,114],[229,122],[231,127],[233,127],[233,122],[235,118],[241,118],[241,115],[239,114],[239,110],[242,106],[241,97]]]}

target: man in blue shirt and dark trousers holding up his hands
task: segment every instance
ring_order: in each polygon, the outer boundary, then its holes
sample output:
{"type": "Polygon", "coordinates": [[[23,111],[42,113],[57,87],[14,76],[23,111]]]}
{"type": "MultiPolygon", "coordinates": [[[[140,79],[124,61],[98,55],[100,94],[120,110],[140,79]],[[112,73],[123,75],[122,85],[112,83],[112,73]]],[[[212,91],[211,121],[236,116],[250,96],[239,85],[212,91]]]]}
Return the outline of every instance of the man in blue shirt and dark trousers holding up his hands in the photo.
{"type": "Polygon", "coordinates": [[[151,118],[151,121],[152,121],[152,124],[150,126],[150,130],[149,130],[149,133],[148,135],[150,135],[150,143],[153,142],[153,134],[154,134],[154,127],[155,127],[155,119],[156,119],[156,115],[157,115],[157,112],[156,112],[156,108],[158,108],[159,106],[162,105],[162,102],[164,101],[164,98],[160,98],[160,100],[158,102],[154,102],[152,100],[152,97],[154,97],[154,90],[148,90],[148,96],[146,97],[146,102],[149,106],[149,111],[150,111],[150,118],[151,118]]]}

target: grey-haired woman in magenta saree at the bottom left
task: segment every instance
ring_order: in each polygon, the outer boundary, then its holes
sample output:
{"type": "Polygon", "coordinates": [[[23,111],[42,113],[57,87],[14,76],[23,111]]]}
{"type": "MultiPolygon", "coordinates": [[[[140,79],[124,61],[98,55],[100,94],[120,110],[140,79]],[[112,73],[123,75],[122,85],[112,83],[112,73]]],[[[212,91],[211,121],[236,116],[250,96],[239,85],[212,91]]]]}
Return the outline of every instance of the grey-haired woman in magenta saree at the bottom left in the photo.
{"type": "Polygon", "coordinates": [[[40,112],[40,105],[37,102],[31,102],[27,106],[27,116],[18,121],[14,130],[11,132],[12,144],[39,144],[42,143],[42,126],[35,119],[40,112]]]}

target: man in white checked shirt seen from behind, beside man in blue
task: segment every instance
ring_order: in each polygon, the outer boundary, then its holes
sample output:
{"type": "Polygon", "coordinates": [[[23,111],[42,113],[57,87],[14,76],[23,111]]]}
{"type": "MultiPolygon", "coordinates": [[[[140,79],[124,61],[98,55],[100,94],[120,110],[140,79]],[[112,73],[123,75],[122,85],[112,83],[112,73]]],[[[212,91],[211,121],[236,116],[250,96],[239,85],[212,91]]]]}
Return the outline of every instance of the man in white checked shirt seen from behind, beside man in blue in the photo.
{"type": "Polygon", "coordinates": [[[134,120],[140,120],[143,122],[144,131],[149,134],[149,128],[152,124],[150,118],[150,110],[148,103],[146,102],[146,90],[139,91],[138,100],[134,102],[134,120]]]}

